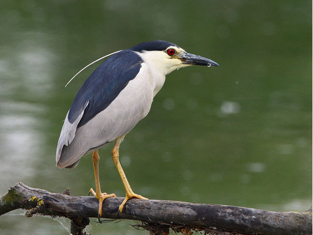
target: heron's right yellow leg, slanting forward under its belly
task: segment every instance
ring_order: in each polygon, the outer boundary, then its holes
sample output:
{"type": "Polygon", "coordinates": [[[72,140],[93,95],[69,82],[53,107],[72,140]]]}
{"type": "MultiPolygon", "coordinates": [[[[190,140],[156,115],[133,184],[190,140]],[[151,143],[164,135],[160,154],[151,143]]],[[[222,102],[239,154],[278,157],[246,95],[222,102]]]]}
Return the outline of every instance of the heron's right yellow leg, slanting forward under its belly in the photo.
{"type": "Polygon", "coordinates": [[[145,198],[145,197],[143,197],[141,195],[138,195],[138,194],[135,194],[133,192],[131,186],[128,183],[128,180],[126,178],[124,170],[123,170],[121,164],[119,163],[119,159],[118,159],[119,158],[119,153],[118,153],[118,150],[119,150],[119,145],[123,141],[123,139],[124,139],[124,136],[117,138],[116,141],[115,141],[113,150],[112,150],[112,158],[113,158],[114,164],[116,165],[116,168],[117,168],[118,173],[120,174],[120,176],[122,178],[122,181],[123,181],[123,184],[124,184],[124,187],[125,187],[125,190],[126,190],[126,197],[125,197],[124,201],[122,202],[122,204],[118,208],[119,212],[123,211],[123,207],[124,207],[125,203],[128,201],[128,199],[139,198],[139,199],[147,199],[148,200],[148,198],[145,198]]]}

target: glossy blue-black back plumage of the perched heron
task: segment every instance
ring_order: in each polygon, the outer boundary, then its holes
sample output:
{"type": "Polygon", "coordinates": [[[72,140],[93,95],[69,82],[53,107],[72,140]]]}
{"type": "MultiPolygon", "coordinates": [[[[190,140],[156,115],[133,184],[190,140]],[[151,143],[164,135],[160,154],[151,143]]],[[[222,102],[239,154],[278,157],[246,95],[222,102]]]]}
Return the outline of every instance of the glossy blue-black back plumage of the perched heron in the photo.
{"type": "Polygon", "coordinates": [[[122,50],[103,62],[82,85],[68,112],[73,123],[84,111],[77,127],[105,110],[117,95],[133,80],[141,68],[142,59],[134,51],[122,50]]]}

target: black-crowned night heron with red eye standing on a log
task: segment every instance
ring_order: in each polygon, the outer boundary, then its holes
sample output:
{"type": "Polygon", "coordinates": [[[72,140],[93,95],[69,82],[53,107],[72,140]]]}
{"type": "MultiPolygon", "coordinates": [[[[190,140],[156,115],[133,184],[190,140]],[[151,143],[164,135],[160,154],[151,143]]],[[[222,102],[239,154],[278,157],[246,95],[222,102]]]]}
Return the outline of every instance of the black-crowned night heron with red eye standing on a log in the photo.
{"type": "Polygon", "coordinates": [[[219,66],[170,42],[144,42],[114,53],[91,73],[76,94],[61,130],[56,165],[74,168],[84,155],[92,152],[96,191],[90,188],[89,193],[99,200],[99,221],[104,199],[116,195],[101,192],[98,149],[115,141],[112,159],[126,190],[118,212],[131,198],[147,199],[135,194],[128,183],[119,162],[120,144],[149,113],[165,76],[192,65],[219,66]]]}

